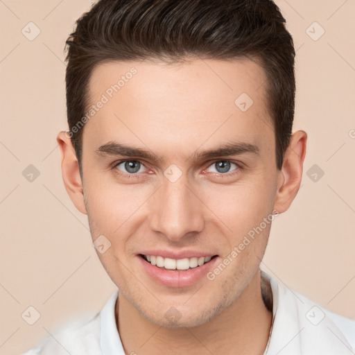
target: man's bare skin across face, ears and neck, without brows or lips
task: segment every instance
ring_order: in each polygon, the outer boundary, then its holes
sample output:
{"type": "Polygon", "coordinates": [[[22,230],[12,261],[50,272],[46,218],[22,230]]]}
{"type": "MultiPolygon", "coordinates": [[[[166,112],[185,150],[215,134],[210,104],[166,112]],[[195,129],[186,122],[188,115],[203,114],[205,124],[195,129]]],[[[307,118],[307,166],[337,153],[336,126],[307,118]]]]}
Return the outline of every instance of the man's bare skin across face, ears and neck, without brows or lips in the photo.
{"type": "Polygon", "coordinates": [[[67,192],[87,214],[93,241],[103,234],[111,243],[98,257],[119,288],[116,324],[125,352],[263,354],[272,313],[261,297],[259,265],[270,224],[215,279],[202,277],[192,286],[157,284],[137,253],[203,250],[218,254],[218,265],[272,210],[283,213],[291,205],[302,179],[306,132],[293,133],[277,170],[266,76],[246,59],[99,64],[89,82],[90,104],[131,67],[137,74],[83,128],[83,180],[70,139],[58,135],[67,192]],[[246,112],[234,104],[243,92],[254,101],[246,112]],[[259,154],[189,159],[232,140],[255,144],[259,154]],[[97,155],[109,141],[162,159],[97,155]],[[124,164],[113,167],[124,159],[143,164],[135,178],[128,178],[124,164]],[[220,172],[214,164],[220,160],[240,166],[220,172]],[[182,172],[175,182],[164,176],[171,164],[182,172]],[[171,307],[180,315],[173,324],[164,316],[171,307]]]}

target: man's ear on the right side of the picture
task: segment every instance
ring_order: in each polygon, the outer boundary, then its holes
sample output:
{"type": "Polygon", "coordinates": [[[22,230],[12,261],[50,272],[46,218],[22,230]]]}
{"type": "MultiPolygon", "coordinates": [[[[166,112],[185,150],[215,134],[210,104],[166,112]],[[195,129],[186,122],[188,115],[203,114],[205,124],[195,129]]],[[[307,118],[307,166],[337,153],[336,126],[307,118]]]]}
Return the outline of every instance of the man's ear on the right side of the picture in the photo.
{"type": "Polygon", "coordinates": [[[303,162],[306,156],[307,134],[303,130],[295,132],[285,155],[282,169],[279,171],[274,209],[281,214],[287,211],[296,197],[302,180],[303,162]]]}

